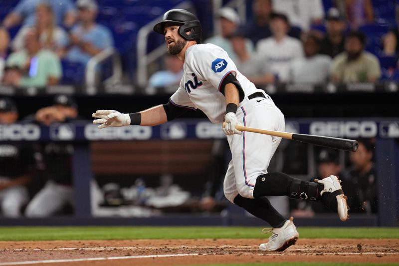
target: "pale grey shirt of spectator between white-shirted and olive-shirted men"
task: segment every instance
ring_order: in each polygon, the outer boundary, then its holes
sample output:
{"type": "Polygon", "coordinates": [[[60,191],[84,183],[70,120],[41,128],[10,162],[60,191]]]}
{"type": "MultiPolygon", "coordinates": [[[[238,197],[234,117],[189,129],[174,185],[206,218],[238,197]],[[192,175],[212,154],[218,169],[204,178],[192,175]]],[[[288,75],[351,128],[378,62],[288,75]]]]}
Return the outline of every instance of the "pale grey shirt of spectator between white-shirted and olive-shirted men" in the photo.
{"type": "Polygon", "coordinates": [[[330,74],[330,64],[330,56],[324,54],[296,59],[290,69],[291,81],[312,84],[326,82],[330,74]]]}

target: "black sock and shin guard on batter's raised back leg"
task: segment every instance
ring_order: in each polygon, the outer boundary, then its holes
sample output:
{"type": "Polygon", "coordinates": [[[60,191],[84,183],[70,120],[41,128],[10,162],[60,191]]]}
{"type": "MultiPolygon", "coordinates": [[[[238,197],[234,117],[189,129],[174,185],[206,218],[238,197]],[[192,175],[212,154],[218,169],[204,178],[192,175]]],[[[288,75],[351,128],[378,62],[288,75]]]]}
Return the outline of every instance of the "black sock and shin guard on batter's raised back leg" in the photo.
{"type": "Polygon", "coordinates": [[[284,173],[267,173],[256,179],[253,197],[288,196],[294,199],[319,201],[323,184],[303,181],[284,173]]]}

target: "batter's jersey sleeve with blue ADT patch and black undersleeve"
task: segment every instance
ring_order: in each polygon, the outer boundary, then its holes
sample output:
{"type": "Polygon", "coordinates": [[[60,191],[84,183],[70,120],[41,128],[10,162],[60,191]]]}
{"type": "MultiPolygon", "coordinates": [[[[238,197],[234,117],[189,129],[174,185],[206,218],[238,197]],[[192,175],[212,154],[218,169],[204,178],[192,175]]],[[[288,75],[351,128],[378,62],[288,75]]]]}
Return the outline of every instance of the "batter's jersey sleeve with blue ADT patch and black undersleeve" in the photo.
{"type": "Polygon", "coordinates": [[[229,83],[234,84],[238,89],[240,102],[244,99],[244,91],[235,78],[237,67],[227,53],[204,51],[200,56],[194,54],[189,60],[189,67],[200,78],[211,83],[223,95],[224,87],[229,83]]]}

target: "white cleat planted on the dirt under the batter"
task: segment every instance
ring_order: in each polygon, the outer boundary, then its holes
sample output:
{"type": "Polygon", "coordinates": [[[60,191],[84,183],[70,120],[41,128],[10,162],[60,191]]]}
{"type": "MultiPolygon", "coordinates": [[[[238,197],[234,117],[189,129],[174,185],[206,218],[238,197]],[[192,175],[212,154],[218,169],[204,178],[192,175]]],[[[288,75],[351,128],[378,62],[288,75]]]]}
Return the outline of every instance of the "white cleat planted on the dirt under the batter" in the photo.
{"type": "Polygon", "coordinates": [[[269,238],[269,242],[259,245],[261,251],[285,251],[288,247],[295,245],[298,240],[299,234],[296,227],[292,222],[293,217],[290,217],[284,225],[280,228],[269,229],[263,233],[273,233],[269,238]]]}

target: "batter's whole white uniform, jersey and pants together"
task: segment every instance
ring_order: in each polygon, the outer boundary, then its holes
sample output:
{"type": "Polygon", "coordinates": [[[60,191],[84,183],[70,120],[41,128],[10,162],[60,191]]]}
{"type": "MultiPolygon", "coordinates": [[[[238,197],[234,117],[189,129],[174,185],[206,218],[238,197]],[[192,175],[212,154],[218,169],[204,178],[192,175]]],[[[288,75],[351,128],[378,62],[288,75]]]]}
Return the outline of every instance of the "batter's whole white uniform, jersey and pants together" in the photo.
{"type": "MultiPolygon", "coordinates": [[[[180,87],[171,97],[173,104],[198,108],[211,122],[222,123],[226,100],[220,92],[220,85],[228,73],[233,73],[245,93],[236,112],[237,120],[244,126],[284,130],[284,116],[270,96],[242,75],[222,48],[213,44],[189,47],[183,69],[180,87]]],[[[242,135],[227,136],[227,140],[232,160],[224,178],[224,195],[231,202],[238,194],[253,198],[256,179],[267,173],[270,159],[281,138],[243,132],[242,135]]]]}

